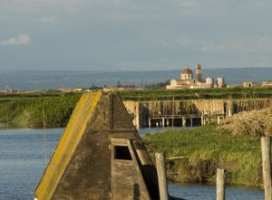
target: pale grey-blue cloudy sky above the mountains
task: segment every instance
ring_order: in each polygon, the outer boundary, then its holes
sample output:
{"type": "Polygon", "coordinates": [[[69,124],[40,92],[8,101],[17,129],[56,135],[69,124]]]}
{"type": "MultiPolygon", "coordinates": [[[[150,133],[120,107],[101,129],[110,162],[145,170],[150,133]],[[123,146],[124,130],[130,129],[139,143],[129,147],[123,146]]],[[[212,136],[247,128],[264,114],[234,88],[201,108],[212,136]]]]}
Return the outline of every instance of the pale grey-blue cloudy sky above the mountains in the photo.
{"type": "Polygon", "coordinates": [[[272,67],[271,0],[0,0],[0,71],[272,67]]]}

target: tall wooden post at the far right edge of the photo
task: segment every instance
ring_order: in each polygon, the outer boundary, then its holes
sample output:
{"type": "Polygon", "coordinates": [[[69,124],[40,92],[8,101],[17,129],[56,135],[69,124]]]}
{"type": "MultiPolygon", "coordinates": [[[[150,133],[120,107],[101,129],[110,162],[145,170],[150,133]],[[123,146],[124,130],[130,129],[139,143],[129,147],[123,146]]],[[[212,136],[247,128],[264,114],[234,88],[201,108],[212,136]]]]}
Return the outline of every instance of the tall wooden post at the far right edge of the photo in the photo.
{"type": "Polygon", "coordinates": [[[272,184],[271,184],[271,138],[261,138],[262,147],[262,164],[265,200],[272,200],[272,184]]]}

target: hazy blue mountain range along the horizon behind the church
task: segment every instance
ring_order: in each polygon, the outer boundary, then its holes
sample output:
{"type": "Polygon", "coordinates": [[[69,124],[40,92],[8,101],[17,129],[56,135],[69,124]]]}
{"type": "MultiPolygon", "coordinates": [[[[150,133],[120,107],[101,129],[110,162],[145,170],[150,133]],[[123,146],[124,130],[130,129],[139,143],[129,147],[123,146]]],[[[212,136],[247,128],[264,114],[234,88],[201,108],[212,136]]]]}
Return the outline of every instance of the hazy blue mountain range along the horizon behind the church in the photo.
{"type": "MultiPolygon", "coordinates": [[[[224,77],[227,83],[272,80],[272,68],[203,69],[208,75],[224,77]]],[[[121,84],[144,86],[171,79],[180,79],[180,71],[0,71],[0,90],[50,90],[89,88],[121,84]]]]}

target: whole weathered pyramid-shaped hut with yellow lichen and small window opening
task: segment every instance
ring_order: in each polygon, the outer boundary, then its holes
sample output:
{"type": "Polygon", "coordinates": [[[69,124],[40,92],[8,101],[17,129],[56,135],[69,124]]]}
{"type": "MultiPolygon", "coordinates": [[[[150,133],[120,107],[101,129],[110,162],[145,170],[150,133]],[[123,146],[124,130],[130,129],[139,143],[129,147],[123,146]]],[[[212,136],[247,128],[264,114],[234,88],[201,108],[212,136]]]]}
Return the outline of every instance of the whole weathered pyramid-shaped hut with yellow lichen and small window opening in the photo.
{"type": "Polygon", "coordinates": [[[117,93],[85,93],[34,197],[160,199],[156,168],[117,93]]]}

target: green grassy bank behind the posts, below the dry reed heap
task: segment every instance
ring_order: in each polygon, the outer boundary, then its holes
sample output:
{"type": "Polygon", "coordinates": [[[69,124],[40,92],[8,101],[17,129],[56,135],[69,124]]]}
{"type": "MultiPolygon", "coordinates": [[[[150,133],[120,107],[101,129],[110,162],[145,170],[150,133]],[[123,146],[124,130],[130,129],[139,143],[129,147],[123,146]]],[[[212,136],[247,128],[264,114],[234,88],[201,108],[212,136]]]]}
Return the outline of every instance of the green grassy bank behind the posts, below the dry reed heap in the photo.
{"type": "Polygon", "coordinates": [[[216,126],[167,130],[143,137],[151,155],[165,152],[168,176],[180,183],[214,183],[216,168],[226,167],[230,185],[261,186],[260,139],[221,133],[216,126]]]}

